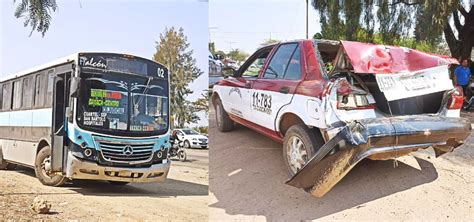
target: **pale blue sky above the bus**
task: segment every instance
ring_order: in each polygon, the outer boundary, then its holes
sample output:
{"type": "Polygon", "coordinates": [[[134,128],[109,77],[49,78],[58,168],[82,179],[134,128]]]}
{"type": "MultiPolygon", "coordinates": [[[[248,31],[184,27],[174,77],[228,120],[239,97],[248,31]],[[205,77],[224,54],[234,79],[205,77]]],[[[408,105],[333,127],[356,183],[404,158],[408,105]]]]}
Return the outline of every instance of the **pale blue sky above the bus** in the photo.
{"type": "MultiPolygon", "coordinates": [[[[18,1],[17,1],[18,2],[18,1]]],[[[208,3],[203,0],[57,0],[44,37],[13,16],[13,0],[0,0],[0,77],[79,51],[110,51],[151,58],[165,27],[183,27],[204,74],[191,84],[198,98],[208,87],[208,3]]],[[[199,125],[207,125],[201,116],[199,125]]]]}

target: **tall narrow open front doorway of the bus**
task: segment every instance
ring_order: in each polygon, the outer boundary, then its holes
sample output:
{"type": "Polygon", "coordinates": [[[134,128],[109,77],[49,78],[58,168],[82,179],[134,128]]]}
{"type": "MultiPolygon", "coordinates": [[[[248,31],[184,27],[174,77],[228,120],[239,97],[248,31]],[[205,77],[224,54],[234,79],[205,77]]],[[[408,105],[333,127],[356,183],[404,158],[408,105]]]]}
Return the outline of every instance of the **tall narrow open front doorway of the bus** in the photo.
{"type": "Polygon", "coordinates": [[[69,101],[69,80],[70,73],[59,74],[54,77],[52,113],[53,121],[51,126],[51,169],[53,172],[63,172],[66,161],[66,106],[69,101]]]}

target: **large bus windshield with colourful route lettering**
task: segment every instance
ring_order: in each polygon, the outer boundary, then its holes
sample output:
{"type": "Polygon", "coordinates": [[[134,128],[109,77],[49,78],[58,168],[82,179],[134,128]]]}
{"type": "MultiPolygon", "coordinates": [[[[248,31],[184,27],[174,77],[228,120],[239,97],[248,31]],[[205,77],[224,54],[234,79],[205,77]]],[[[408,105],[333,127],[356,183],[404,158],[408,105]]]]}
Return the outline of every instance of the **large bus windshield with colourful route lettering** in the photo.
{"type": "Polygon", "coordinates": [[[168,129],[167,80],[107,73],[82,73],[77,122],[114,135],[151,136],[168,129]]]}

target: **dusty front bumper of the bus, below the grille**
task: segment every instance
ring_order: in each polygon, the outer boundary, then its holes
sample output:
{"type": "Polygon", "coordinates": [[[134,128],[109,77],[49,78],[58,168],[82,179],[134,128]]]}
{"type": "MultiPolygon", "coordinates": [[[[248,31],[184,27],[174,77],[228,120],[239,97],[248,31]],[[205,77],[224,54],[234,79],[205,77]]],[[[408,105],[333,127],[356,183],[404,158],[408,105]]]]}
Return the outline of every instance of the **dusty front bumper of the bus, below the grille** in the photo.
{"type": "Polygon", "coordinates": [[[168,176],[171,162],[155,164],[146,168],[100,166],[80,160],[68,153],[66,177],[70,179],[108,180],[133,183],[162,182],[168,176]]]}

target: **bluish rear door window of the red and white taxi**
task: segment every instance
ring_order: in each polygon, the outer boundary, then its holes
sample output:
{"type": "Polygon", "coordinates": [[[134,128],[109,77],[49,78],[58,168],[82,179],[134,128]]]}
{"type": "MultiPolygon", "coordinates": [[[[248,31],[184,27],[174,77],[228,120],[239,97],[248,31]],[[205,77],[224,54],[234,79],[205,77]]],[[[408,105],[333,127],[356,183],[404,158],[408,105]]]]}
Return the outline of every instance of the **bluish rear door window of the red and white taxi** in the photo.
{"type": "MultiPolygon", "coordinates": [[[[292,74],[289,77],[294,78],[294,67],[295,63],[292,62],[292,57],[295,51],[297,51],[298,44],[297,43],[290,43],[290,44],[283,44],[281,45],[275,55],[270,60],[267,69],[263,75],[264,79],[284,79],[285,73],[288,71],[290,65],[292,66],[292,74]]],[[[299,53],[297,53],[299,54],[299,53]]],[[[299,61],[298,61],[299,63],[299,61]]],[[[285,78],[286,79],[286,78],[285,78]]]]}

